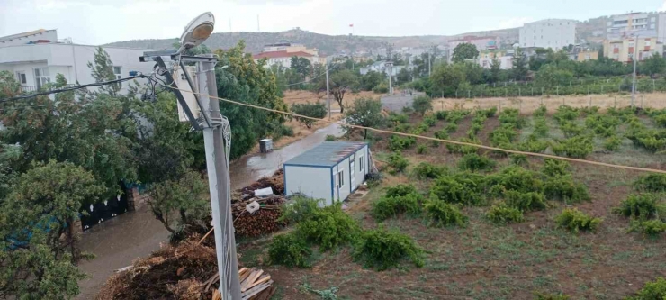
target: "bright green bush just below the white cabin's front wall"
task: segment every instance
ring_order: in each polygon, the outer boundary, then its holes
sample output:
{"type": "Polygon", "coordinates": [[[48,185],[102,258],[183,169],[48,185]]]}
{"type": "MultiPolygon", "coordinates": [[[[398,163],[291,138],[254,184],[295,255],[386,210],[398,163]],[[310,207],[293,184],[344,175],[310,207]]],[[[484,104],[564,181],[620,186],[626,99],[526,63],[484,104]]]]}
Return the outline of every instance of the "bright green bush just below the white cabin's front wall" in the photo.
{"type": "Polygon", "coordinates": [[[342,204],[324,207],[308,220],[298,223],[296,232],[320,246],[320,250],[338,248],[356,238],[359,226],[349,214],[342,211],[342,204]]]}

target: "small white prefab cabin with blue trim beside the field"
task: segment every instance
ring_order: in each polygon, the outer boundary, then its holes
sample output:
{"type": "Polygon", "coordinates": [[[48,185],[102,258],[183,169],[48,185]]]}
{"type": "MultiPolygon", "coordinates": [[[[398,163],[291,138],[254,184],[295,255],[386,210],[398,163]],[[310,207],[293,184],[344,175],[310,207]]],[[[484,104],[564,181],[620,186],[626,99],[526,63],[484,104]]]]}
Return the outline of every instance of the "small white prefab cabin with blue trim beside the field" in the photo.
{"type": "Polygon", "coordinates": [[[365,142],[324,141],[284,163],[284,194],[343,201],[365,181],[368,157],[365,142]]]}

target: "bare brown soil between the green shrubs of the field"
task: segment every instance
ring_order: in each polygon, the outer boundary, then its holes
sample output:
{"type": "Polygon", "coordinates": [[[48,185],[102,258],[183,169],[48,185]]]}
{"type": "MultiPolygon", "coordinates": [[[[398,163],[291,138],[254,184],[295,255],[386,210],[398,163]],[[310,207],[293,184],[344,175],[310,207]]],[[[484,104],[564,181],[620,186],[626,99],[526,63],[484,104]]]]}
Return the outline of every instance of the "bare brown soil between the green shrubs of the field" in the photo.
{"type": "MultiPolygon", "coordinates": [[[[459,123],[453,137],[468,131],[470,118],[459,123]]],[[[550,116],[548,119],[552,120],[550,116]]],[[[438,121],[426,134],[433,136],[445,125],[438,121]]],[[[489,144],[488,134],[499,125],[497,117],[486,120],[478,134],[483,144],[489,144]]],[[[528,130],[529,126],[524,129],[528,130]]],[[[374,156],[385,159],[388,136],[375,137],[374,156]]],[[[449,154],[445,145],[434,147],[429,142],[426,154],[416,154],[416,147],[402,153],[410,160],[404,175],[387,175],[381,186],[350,204],[350,214],[363,227],[377,226],[368,215],[369,204],[383,195],[386,186],[409,182],[422,191],[428,188],[430,181],[410,175],[410,169],[420,161],[454,169],[460,159],[449,154]]],[[[509,159],[492,158],[499,163],[496,169],[509,164],[509,159]]],[[[612,153],[595,145],[589,159],[666,169],[660,155],[635,149],[628,140],[612,153]]],[[[536,170],[542,164],[541,159],[528,159],[525,168],[536,170]]],[[[592,198],[575,206],[603,219],[597,232],[574,234],[556,228],[554,216],[565,205],[551,202],[553,207],[528,213],[526,222],[512,225],[488,222],[484,217],[488,207],[465,207],[464,214],[470,218],[466,228],[432,228],[420,218],[407,216],[385,221],[385,226],[409,234],[428,251],[424,268],[405,264],[378,272],[354,262],[349,248],[316,252],[312,268],[264,266],[266,240],[243,241],[238,252],[243,253],[242,264],[261,266],[274,276],[280,286],[277,299],[319,298],[302,292],[304,284],[319,290],[337,287],[337,295],[343,299],[533,299],[534,292],[563,293],[572,299],[622,299],[633,295],[645,282],[666,275],[663,235],[652,239],[627,233],[629,221],[611,213],[632,192],[631,184],[641,173],[582,164],[573,168],[573,176],[588,186],[592,198]]]]}

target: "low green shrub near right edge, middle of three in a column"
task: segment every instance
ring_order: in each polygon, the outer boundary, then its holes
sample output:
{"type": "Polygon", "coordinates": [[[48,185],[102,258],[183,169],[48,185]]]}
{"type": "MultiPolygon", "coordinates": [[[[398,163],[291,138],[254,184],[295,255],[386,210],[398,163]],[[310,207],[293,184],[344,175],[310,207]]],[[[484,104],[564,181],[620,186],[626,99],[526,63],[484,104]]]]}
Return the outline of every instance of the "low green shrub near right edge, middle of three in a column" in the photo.
{"type": "Polygon", "coordinates": [[[658,195],[632,194],[628,195],[625,200],[622,200],[618,207],[613,208],[613,213],[648,220],[659,215],[666,217],[666,206],[660,204],[658,195]]]}

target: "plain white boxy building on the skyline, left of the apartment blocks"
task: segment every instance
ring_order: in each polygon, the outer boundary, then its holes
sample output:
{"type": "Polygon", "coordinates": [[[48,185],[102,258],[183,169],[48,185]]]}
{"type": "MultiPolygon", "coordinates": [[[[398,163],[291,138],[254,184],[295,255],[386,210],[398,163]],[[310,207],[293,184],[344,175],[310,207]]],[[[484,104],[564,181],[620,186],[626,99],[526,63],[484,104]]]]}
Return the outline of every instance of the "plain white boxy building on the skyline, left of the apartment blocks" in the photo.
{"type": "Polygon", "coordinates": [[[520,28],[520,47],[561,50],[576,42],[575,20],[548,19],[526,23],[520,28]]]}

